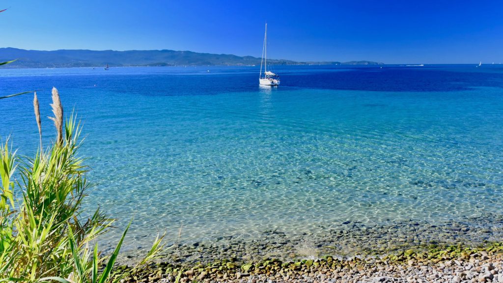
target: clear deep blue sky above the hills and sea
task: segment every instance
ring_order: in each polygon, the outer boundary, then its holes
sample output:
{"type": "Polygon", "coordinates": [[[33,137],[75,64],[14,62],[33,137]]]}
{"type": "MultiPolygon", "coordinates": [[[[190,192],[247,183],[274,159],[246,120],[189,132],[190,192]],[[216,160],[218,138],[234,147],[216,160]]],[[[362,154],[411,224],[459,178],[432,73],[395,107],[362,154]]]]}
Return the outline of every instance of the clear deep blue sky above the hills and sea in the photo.
{"type": "Polygon", "coordinates": [[[0,0],[0,47],[292,60],[503,62],[503,1],[0,0]]]}

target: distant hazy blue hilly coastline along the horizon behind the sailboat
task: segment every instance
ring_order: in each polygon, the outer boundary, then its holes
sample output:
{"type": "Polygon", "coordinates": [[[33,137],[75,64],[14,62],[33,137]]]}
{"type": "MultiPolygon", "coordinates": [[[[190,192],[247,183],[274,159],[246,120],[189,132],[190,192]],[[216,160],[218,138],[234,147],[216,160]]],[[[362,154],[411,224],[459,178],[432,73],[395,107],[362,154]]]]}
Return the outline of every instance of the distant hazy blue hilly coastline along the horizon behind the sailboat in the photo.
{"type": "MultiPolygon", "coordinates": [[[[25,50],[0,48],[0,61],[18,59],[7,68],[100,67],[118,66],[245,66],[258,65],[261,58],[232,54],[211,54],[175,50],[25,50]]],[[[372,65],[375,61],[293,61],[268,59],[274,65],[372,65]]]]}

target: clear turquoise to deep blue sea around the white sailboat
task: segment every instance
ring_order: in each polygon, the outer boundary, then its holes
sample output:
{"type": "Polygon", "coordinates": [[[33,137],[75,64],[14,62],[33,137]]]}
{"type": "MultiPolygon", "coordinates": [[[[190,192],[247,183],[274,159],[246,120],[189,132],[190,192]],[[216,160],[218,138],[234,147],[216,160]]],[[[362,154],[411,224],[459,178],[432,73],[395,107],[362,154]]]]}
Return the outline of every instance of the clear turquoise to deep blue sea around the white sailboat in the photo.
{"type": "MultiPolygon", "coordinates": [[[[84,123],[86,206],[119,227],[134,216],[130,246],[176,239],[182,223],[187,243],[348,221],[499,237],[503,67],[276,67],[279,88],[260,88],[256,68],[0,69],[0,92],[41,89],[49,116],[59,89],[84,123]]],[[[23,154],[37,146],[31,100],[0,100],[0,134],[23,154]]]]}

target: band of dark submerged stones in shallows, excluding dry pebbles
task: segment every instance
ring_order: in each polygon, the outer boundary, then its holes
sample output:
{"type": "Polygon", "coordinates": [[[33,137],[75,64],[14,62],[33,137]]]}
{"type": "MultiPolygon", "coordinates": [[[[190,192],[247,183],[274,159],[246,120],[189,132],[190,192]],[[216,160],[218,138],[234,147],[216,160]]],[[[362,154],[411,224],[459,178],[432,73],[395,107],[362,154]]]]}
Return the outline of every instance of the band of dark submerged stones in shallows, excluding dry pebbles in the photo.
{"type": "MultiPolygon", "coordinates": [[[[429,223],[427,221],[389,221],[364,224],[344,222],[332,227],[319,227],[316,233],[291,235],[280,230],[268,230],[254,237],[239,235],[215,236],[208,241],[185,242],[164,254],[163,261],[173,263],[211,263],[222,258],[237,258],[256,262],[264,258],[290,261],[297,258],[340,258],[383,256],[430,245],[478,246],[503,239],[503,217],[485,215],[464,222],[429,223]]],[[[137,249],[129,253],[122,264],[132,264],[137,249]]]]}

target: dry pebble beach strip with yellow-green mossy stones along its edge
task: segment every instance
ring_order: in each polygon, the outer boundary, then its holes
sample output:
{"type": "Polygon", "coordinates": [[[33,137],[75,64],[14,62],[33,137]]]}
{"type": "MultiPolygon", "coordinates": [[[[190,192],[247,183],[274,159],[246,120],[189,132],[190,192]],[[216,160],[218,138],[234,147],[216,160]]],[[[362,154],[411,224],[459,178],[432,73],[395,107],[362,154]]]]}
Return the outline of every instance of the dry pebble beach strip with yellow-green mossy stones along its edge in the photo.
{"type": "Polygon", "coordinates": [[[151,264],[121,279],[130,282],[499,282],[503,283],[503,244],[483,247],[430,246],[424,250],[367,258],[323,258],[242,262],[151,264]]]}

